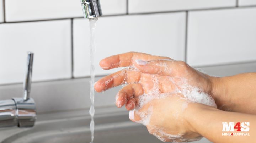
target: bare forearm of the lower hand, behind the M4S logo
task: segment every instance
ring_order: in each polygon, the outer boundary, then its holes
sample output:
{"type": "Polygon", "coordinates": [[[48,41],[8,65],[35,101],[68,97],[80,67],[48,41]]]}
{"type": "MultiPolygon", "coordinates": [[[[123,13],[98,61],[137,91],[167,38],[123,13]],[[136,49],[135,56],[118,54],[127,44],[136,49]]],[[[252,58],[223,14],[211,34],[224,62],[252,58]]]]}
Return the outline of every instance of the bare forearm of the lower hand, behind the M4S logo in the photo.
{"type": "Polygon", "coordinates": [[[212,142],[235,143],[254,142],[256,140],[256,115],[226,112],[203,104],[190,104],[186,109],[186,119],[195,132],[201,134],[212,142]],[[250,122],[247,132],[234,131],[230,133],[249,133],[250,136],[223,136],[222,122],[250,122]]]}

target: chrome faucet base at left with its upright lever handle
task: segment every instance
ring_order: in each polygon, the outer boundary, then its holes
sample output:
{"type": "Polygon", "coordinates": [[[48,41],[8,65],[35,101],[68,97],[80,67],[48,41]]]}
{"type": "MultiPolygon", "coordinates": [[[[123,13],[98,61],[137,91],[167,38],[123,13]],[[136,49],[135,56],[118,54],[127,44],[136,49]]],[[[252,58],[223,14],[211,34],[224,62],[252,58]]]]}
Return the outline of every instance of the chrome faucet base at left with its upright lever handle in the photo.
{"type": "Polygon", "coordinates": [[[30,98],[33,53],[28,52],[23,97],[0,101],[0,127],[33,127],[36,121],[36,105],[30,98]]]}

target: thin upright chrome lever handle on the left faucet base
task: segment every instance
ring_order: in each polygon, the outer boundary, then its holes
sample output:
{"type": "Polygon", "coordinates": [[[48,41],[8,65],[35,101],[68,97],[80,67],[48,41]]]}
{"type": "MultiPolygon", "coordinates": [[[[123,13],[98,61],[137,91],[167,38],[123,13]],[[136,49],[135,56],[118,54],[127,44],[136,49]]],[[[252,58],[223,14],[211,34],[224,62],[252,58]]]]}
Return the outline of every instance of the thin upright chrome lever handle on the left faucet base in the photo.
{"type": "Polygon", "coordinates": [[[27,67],[25,80],[23,82],[23,99],[28,100],[30,98],[31,82],[32,82],[32,67],[33,67],[34,53],[28,52],[27,67]]]}

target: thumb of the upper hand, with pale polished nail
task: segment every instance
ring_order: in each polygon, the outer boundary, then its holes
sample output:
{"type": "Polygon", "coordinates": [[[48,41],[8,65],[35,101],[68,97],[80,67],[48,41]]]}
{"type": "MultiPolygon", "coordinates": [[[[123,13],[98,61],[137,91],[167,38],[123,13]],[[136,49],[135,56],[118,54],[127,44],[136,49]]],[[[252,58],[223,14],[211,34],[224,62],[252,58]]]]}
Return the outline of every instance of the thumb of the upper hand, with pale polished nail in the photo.
{"type": "Polygon", "coordinates": [[[142,73],[158,74],[161,76],[174,76],[176,73],[184,72],[188,65],[183,61],[174,60],[136,60],[135,67],[142,73]]]}

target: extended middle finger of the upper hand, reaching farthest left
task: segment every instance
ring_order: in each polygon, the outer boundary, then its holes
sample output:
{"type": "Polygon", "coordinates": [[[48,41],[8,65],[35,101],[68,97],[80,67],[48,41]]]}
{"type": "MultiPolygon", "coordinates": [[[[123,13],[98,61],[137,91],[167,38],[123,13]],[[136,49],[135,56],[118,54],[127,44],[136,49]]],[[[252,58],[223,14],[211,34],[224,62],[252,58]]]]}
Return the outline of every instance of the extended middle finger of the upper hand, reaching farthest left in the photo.
{"type": "Polygon", "coordinates": [[[140,81],[140,78],[141,78],[141,73],[139,71],[124,69],[116,73],[112,73],[98,80],[94,85],[94,89],[97,92],[102,92],[109,88],[124,84],[125,82],[127,83],[138,82],[140,81]]]}

